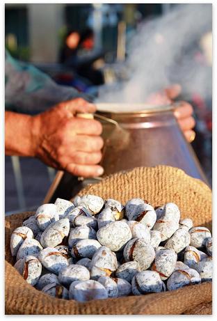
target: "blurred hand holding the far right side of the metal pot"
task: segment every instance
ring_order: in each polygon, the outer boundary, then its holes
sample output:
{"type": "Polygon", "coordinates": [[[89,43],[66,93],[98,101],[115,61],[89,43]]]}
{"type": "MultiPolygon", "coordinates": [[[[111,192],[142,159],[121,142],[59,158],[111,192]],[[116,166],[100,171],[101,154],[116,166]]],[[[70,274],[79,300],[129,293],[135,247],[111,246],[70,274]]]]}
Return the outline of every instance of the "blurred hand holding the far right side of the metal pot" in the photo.
{"type": "MultiPolygon", "coordinates": [[[[151,104],[170,104],[175,97],[182,91],[181,86],[178,84],[172,85],[164,89],[161,93],[156,93],[150,96],[149,102],[151,104]]],[[[175,102],[174,116],[177,118],[186,140],[191,143],[195,139],[195,120],[193,118],[193,107],[188,102],[180,101],[175,102]]]]}

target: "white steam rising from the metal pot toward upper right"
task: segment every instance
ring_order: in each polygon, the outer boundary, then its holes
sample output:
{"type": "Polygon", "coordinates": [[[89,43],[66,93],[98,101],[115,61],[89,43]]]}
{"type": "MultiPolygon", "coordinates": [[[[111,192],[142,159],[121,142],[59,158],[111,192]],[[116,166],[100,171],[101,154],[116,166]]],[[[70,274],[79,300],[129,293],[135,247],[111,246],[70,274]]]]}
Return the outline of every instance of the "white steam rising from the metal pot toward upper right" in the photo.
{"type": "Polygon", "coordinates": [[[143,23],[129,47],[127,79],[102,86],[97,102],[143,103],[175,83],[186,100],[194,93],[210,98],[211,65],[198,52],[211,24],[211,4],[180,4],[143,23]]]}

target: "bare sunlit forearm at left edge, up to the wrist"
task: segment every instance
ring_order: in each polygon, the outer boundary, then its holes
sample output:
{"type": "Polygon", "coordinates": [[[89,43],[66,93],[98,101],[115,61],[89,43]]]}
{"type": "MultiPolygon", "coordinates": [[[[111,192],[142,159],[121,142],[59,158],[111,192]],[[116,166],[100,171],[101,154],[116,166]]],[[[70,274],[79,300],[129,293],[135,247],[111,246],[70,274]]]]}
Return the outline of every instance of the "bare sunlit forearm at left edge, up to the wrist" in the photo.
{"type": "Polygon", "coordinates": [[[34,117],[6,111],[5,148],[6,155],[35,157],[34,117]]]}

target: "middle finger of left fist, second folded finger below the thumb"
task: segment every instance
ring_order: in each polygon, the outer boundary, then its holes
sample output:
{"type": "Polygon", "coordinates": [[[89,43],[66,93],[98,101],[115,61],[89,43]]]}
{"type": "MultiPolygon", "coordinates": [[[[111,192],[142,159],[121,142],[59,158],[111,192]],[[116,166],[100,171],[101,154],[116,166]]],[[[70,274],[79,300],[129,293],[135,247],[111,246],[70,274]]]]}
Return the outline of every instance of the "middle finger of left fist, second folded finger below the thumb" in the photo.
{"type": "Polygon", "coordinates": [[[101,136],[77,135],[73,139],[74,148],[79,152],[99,152],[104,145],[101,136]]]}

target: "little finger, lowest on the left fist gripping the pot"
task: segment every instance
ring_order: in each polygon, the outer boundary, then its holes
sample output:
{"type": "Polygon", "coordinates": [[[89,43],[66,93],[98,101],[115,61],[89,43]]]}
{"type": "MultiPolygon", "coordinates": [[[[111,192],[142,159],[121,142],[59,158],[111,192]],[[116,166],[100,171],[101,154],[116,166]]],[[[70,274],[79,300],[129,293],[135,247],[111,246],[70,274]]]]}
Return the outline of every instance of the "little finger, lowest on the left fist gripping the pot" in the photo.
{"type": "Polygon", "coordinates": [[[103,174],[104,169],[99,165],[78,165],[78,164],[67,164],[65,171],[72,175],[81,176],[84,178],[100,176],[103,174]]]}

